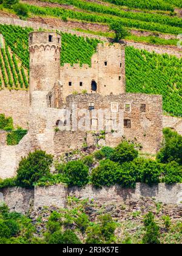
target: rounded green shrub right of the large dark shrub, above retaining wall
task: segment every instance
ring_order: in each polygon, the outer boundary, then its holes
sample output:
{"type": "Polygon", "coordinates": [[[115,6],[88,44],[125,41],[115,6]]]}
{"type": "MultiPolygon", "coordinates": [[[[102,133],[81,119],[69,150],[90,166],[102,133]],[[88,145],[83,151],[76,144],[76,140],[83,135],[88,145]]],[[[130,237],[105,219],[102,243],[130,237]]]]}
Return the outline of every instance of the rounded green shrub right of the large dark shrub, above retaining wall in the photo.
{"type": "Polygon", "coordinates": [[[67,163],[64,174],[68,179],[70,186],[84,186],[89,182],[89,167],[84,165],[81,160],[71,161],[67,163]]]}

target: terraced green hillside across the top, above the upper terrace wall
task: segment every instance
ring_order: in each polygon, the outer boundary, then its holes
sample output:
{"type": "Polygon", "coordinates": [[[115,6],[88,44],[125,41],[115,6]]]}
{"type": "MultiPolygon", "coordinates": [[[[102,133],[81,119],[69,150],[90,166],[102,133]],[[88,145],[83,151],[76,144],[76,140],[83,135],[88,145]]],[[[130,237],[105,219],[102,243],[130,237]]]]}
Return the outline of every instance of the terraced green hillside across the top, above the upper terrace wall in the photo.
{"type": "Polygon", "coordinates": [[[107,0],[107,4],[103,1],[90,2],[84,0],[41,0],[23,2],[30,16],[51,16],[63,20],[72,19],[107,25],[112,21],[121,21],[123,26],[129,29],[142,29],[174,35],[182,33],[182,21],[181,18],[177,16],[177,13],[174,12],[175,5],[169,4],[169,2],[166,1],[154,1],[154,3],[153,1],[147,1],[150,2],[150,4],[144,4],[146,1],[137,1],[137,4],[135,4],[134,1],[117,0],[107,0]],[[112,4],[110,4],[110,2],[112,4]],[[129,7],[127,10],[123,7],[125,2],[126,7],[129,7]],[[127,4],[127,2],[129,3],[127,4]],[[143,5],[141,2],[143,2],[143,5]],[[52,5],[50,3],[52,3],[52,5]],[[135,8],[146,8],[146,10],[130,10],[132,5],[135,8]],[[153,13],[150,9],[160,9],[161,12],[159,13],[155,10],[153,13]]]}

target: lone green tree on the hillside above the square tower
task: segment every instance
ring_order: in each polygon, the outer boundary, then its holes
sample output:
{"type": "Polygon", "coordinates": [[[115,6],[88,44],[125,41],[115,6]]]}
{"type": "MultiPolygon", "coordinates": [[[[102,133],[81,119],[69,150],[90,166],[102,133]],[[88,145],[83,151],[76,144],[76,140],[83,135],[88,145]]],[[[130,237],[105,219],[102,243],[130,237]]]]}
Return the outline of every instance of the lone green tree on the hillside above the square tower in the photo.
{"type": "Polygon", "coordinates": [[[129,31],[123,26],[121,21],[113,21],[109,24],[109,30],[115,32],[115,41],[120,41],[130,35],[129,31]]]}

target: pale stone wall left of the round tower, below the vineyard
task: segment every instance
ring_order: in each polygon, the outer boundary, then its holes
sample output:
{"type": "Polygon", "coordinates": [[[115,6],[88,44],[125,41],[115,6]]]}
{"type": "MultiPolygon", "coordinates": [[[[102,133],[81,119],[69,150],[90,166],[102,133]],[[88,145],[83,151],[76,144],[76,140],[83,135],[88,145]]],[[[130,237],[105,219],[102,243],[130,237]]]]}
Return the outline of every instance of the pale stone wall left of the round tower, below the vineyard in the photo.
{"type": "Polygon", "coordinates": [[[13,118],[14,126],[28,128],[29,123],[29,91],[8,90],[0,91],[0,113],[13,118]]]}

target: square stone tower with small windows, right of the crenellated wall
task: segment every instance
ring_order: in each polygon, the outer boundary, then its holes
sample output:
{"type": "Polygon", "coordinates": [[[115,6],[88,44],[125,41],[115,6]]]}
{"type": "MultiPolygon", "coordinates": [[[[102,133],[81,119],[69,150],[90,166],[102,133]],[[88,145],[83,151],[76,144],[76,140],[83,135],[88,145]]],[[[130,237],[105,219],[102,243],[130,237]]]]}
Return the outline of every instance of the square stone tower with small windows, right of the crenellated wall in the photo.
{"type": "Polygon", "coordinates": [[[125,45],[99,43],[98,93],[103,95],[125,93],[125,45]]]}

